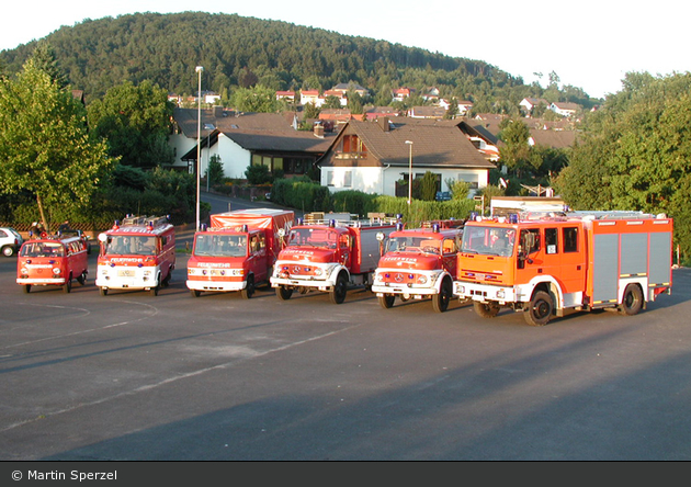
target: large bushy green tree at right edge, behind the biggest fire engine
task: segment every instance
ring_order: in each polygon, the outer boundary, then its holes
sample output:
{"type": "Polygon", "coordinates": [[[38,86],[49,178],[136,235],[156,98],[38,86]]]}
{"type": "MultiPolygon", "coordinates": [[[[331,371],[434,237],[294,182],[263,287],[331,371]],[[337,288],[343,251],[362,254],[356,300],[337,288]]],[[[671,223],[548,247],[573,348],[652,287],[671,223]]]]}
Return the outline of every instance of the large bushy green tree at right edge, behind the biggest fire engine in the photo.
{"type": "Polygon", "coordinates": [[[586,118],[555,188],[575,209],[666,213],[691,252],[691,73],[627,73],[586,118]]]}

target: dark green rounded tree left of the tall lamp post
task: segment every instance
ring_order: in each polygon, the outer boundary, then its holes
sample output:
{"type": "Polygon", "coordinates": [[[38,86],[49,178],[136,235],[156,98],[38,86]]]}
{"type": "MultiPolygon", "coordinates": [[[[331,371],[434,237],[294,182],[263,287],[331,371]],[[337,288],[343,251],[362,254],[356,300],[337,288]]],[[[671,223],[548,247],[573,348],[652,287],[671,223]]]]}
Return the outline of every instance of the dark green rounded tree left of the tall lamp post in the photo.
{"type": "Polygon", "coordinates": [[[127,81],[111,88],[89,105],[89,124],[107,139],[111,156],[137,168],[155,168],[174,161],[168,145],[172,104],[168,92],[150,81],[127,81]]]}

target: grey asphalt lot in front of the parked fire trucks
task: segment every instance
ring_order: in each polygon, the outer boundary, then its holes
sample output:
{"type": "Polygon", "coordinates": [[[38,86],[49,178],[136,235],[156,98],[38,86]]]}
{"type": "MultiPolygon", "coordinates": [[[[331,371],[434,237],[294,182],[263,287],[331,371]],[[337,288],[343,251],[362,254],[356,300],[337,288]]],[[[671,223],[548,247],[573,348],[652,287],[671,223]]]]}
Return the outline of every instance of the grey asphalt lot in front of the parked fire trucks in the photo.
{"type": "Polygon", "coordinates": [[[691,271],[634,317],[530,327],[452,303],[341,305],[14,282],[0,258],[2,461],[691,460],[691,271]]]}

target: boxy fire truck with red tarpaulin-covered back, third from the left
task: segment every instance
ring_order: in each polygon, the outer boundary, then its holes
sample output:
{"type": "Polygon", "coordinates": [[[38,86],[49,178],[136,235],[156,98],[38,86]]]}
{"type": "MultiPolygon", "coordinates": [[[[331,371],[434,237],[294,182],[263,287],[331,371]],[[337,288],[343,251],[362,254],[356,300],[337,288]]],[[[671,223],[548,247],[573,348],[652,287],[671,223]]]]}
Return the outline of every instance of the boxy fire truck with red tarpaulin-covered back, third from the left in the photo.
{"type": "Polygon", "coordinates": [[[269,282],[273,264],[295,219],[292,211],[238,209],[211,215],[211,228],[194,234],[188,261],[192,296],[203,291],[240,291],[250,298],[256,286],[269,282]]]}

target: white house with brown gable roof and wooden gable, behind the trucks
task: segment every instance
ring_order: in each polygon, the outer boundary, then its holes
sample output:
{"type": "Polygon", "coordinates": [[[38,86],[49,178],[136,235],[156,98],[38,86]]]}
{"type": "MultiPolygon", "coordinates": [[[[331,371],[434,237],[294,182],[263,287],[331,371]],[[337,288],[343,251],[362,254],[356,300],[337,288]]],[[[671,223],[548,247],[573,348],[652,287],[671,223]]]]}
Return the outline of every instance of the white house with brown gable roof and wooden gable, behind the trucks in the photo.
{"type": "Polygon", "coordinates": [[[317,161],[321,184],[331,191],[359,190],[397,195],[409,177],[437,177],[438,189],[446,181],[466,181],[472,189],[487,185],[488,161],[468,139],[458,121],[381,117],[374,122],[351,120],[317,161]]]}

